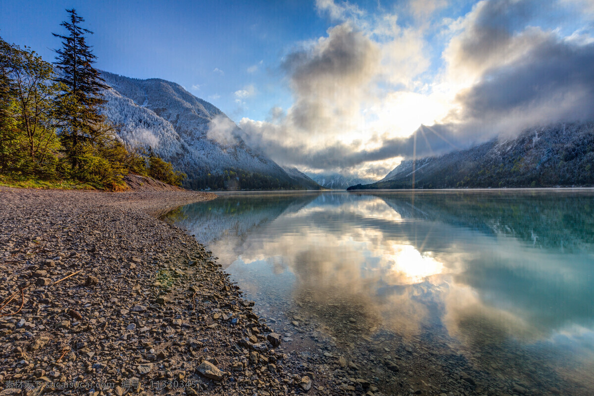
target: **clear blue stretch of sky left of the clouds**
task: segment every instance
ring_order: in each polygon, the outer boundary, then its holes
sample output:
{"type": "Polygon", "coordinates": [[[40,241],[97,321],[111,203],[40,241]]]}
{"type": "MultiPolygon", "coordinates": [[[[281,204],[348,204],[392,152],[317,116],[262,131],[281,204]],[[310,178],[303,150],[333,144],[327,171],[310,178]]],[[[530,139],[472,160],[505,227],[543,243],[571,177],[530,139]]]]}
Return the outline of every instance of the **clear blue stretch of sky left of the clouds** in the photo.
{"type": "Polygon", "coordinates": [[[59,40],[51,33],[61,33],[64,10],[72,7],[94,32],[88,41],[97,68],[175,81],[234,119],[261,119],[275,105],[289,106],[280,59],[294,43],[322,36],[330,25],[314,2],[302,0],[6,0],[0,5],[0,36],[52,61],[59,40]],[[250,85],[256,88],[250,100],[236,103],[234,93],[250,85]]]}

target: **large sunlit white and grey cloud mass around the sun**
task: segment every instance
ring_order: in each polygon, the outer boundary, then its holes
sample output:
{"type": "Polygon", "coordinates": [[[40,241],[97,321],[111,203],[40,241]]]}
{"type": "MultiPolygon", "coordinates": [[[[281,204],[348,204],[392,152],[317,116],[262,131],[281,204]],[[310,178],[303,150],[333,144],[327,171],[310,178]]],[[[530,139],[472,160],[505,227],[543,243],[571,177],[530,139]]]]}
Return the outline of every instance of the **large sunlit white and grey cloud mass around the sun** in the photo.
{"type": "Polygon", "coordinates": [[[283,59],[292,106],[240,122],[280,163],[381,178],[402,157],[594,118],[589,2],[484,0],[456,19],[440,0],[316,5],[334,26],[283,59]]]}

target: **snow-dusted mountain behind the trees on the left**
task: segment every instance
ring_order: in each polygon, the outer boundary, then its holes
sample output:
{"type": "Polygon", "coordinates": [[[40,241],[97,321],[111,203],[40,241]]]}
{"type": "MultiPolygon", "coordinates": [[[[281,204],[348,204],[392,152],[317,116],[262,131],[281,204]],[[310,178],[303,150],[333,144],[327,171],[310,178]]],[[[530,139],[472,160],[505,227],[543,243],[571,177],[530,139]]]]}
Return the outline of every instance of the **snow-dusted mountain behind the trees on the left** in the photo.
{"type": "Polygon", "coordinates": [[[121,125],[130,147],[151,147],[188,175],[186,188],[304,189],[301,180],[239,137],[241,130],[221,110],[181,85],[159,78],[140,80],[101,72],[105,115],[121,125]],[[214,126],[214,128],[213,128],[214,126]]]}

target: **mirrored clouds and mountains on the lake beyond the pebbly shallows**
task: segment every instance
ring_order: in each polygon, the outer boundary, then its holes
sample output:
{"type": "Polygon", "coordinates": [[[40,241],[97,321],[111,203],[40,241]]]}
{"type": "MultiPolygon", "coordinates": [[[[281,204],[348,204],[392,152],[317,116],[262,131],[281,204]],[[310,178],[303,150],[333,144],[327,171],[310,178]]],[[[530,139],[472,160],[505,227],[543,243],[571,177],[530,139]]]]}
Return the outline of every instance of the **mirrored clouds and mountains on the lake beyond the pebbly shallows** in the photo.
{"type": "Polygon", "coordinates": [[[494,367],[521,347],[593,390],[592,191],[222,194],[166,218],[278,320],[435,335],[494,367]]]}

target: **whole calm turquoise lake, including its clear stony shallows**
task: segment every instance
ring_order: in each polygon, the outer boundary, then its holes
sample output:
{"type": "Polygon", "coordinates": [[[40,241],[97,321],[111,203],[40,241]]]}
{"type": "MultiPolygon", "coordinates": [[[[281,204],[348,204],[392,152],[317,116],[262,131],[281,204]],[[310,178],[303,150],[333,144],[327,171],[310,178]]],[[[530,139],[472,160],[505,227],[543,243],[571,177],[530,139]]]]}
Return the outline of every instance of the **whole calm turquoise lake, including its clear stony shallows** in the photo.
{"type": "Polygon", "coordinates": [[[223,193],[165,220],[347,394],[594,394],[590,189],[223,193]]]}

